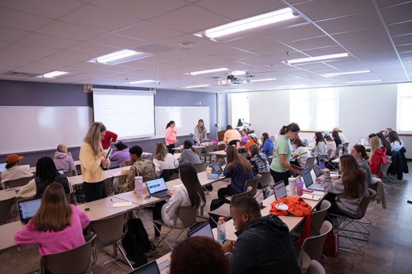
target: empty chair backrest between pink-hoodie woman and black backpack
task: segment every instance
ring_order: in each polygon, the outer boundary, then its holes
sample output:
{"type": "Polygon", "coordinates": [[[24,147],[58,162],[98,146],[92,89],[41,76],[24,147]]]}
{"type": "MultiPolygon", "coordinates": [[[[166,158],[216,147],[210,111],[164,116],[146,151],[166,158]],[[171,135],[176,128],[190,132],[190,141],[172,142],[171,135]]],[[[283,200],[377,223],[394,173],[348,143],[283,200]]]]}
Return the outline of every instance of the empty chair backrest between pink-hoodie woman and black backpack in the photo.
{"type": "Polygon", "coordinates": [[[123,236],[123,226],[124,226],[124,212],[119,212],[106,218],[90,222],[91,232],[98,234],[98,237],[103,242],[103,246],[112,245],[123,236]]]}

